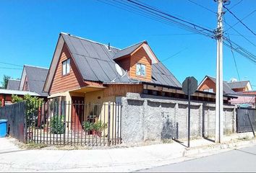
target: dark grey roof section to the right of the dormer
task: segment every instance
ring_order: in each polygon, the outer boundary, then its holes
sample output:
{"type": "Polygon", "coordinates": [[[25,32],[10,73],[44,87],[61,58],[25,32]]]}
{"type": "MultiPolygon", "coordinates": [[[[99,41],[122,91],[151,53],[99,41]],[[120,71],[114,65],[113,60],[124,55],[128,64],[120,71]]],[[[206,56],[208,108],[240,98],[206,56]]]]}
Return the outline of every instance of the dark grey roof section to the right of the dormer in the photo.
{"type": "Polygon", "coordinates": [[[182,87],[182,84],[161,62],[152,64],[152,81],[155,84],[182,87]]]}

